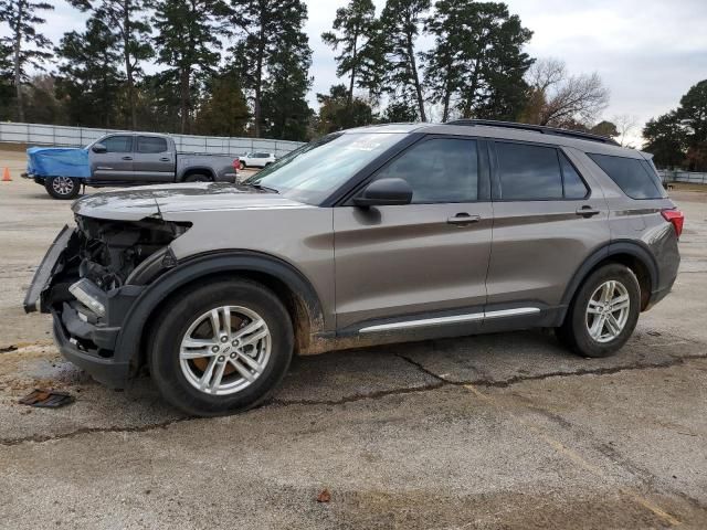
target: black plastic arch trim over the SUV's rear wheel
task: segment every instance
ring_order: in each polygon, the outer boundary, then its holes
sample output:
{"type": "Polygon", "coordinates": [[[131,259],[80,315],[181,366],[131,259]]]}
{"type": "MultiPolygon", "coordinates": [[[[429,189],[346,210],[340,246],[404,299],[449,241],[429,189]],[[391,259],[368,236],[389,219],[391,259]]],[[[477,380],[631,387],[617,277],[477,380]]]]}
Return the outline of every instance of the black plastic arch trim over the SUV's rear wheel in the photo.
{"type": "Polygon", "coordinates": [[[645,309],[658,285],[658,266],[651,252],[635,241],[615,241],[594,251],[572,276],[562,295],[562,306],[569,307],[587,277],[609,263],[621,263],[633,271],[641,286],[641,309],[645,309]]]}

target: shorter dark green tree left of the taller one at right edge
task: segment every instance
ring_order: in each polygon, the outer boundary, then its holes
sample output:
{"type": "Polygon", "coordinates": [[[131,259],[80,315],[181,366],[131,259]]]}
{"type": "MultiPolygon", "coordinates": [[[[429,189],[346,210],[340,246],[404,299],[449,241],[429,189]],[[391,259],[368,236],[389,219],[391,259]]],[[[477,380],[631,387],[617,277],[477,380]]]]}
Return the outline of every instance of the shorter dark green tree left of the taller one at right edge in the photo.
{"type": "Polygon", "coordinates": [[[685,160],[687,132],[675,110],[648,120],[643,128],[643,149],[653,153],[653,160],[661,168],[679,167],[685,160]]]}

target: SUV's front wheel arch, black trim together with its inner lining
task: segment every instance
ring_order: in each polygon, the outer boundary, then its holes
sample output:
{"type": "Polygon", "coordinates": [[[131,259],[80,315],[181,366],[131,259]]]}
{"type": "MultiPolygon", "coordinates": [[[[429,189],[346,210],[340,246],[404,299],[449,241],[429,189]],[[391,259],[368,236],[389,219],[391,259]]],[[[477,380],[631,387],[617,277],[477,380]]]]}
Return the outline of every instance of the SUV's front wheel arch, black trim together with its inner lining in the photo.
{"type": "Polygon", "coordinates": [[[155,316],[175,296],[204,280],[249,278],[274,292],[287,309],[295,331],[295,351],[306,351],[310,336],[324,329],[320,299],[312,283],[293,265],[250,251],[191,256],[149,284],[128,310],[118,335],[116,358],[129,360],[133,373],[145,360],[155,316]]]}

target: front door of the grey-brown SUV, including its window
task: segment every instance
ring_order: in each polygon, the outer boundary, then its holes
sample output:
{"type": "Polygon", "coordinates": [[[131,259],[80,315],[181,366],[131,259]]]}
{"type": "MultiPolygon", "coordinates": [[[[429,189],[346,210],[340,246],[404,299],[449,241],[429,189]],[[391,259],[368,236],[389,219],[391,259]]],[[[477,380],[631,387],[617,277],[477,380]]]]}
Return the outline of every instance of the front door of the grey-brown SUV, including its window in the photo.
{"type": "Polygon", "coordinates": [[[335,208],[339,330],[481,325],[493,211],[477,144],[423,138],[378,170],[408,181],[411,204],[335,208]]]}

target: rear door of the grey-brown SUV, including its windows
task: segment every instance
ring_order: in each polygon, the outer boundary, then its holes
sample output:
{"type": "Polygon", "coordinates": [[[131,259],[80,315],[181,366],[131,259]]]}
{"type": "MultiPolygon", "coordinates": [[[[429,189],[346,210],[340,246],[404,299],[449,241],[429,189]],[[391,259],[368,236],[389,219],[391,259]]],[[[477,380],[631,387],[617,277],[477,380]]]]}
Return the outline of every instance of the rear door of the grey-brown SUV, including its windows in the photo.
{"type": "Polygon", "coordinates": [[[495,140],[489,147],[487,315],[556,308],[584,259],[610,240],[601,188],[557,146],[495,140]]]}

